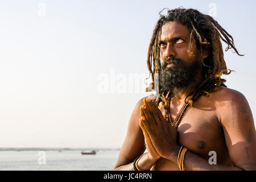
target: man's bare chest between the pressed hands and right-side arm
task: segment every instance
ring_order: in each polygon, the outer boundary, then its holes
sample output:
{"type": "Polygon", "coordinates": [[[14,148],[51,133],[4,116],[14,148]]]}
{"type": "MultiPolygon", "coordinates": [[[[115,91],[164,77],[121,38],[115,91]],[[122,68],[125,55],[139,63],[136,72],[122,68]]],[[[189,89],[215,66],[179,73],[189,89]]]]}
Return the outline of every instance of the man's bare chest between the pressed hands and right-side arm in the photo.
{"type": "MultiPolygon", "coordinates": [[[[172,113],[172,121],[178,113],[172,113]]],[[[177,129],[177,144],[203,158],[208,158],[209,151],[223,153],[226,150],[224,133],[214,110],[188,106],[177,129]]]]}

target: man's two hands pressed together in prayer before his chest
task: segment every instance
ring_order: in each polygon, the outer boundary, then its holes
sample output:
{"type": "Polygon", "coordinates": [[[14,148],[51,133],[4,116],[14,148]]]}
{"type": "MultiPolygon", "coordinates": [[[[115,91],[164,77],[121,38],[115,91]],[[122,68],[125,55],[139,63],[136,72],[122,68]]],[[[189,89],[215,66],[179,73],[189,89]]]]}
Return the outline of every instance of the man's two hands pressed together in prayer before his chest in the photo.
{"type": "Polygon", "coordinates": [[[139,125],[143,131],[148,156],[170,159],[177,148],[177,131],[166,121],[154,100],[144,98],[139,125]]]}

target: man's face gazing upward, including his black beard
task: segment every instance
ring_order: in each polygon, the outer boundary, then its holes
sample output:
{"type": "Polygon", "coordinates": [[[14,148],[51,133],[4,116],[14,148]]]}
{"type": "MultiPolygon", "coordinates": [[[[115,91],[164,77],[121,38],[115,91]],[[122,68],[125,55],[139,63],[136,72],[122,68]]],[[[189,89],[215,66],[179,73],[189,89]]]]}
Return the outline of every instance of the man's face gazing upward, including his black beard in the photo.
{"type": "Polygon", "coordinates": [[[201,72],[200,52],[196,43],[191,43],[192,55],[189,55],[190,34],[188,28],[177,22],[163,25],[159,39],[161,71],[159,84],[165,91],[184,89],[201,72]]]}

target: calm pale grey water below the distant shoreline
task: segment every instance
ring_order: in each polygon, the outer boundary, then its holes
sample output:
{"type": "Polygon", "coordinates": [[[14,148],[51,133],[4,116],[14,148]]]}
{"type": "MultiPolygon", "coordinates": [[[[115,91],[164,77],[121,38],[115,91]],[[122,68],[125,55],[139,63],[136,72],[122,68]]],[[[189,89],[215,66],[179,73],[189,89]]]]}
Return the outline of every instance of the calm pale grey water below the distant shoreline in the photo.
{"type": "Polygon", "coordinates": [[[98,151],[81,155],[81,151],[46,151],[46,164],[39,151],[0,151],[0,170],[113,170],[119,151],[98,151]],[[39,160],[39,162],[38,162],[39,160]]]}

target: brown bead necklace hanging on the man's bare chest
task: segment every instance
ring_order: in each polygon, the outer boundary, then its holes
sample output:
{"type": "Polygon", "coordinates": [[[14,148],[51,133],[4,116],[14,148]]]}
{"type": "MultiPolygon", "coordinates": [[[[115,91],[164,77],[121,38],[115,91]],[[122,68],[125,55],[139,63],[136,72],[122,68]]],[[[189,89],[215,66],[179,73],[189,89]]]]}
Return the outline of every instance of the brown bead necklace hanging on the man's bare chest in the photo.
{"type": "MultiPolygon", "coordinates": [[[[192,99],[192,97],[190,97],[190,99],[192,99]]],[[[185,101],[185,103],[181,107],[179,113],[177,114],[176,118],[174,119],[174,121],[172,121],[172,116],[171,116],[171,112],[170,112],[171,98],[172,98],[172,94],[171,94],[171,97],[168,97],[166,118],[167,118],[167,121],[171,123],[172,127],[174,127],[177,130],[180,125],[180,122],[182,120],[182,117],[185,113],[185,110],[187,109],[187,107],[189,105],[189,102],[185,101]]]]}

